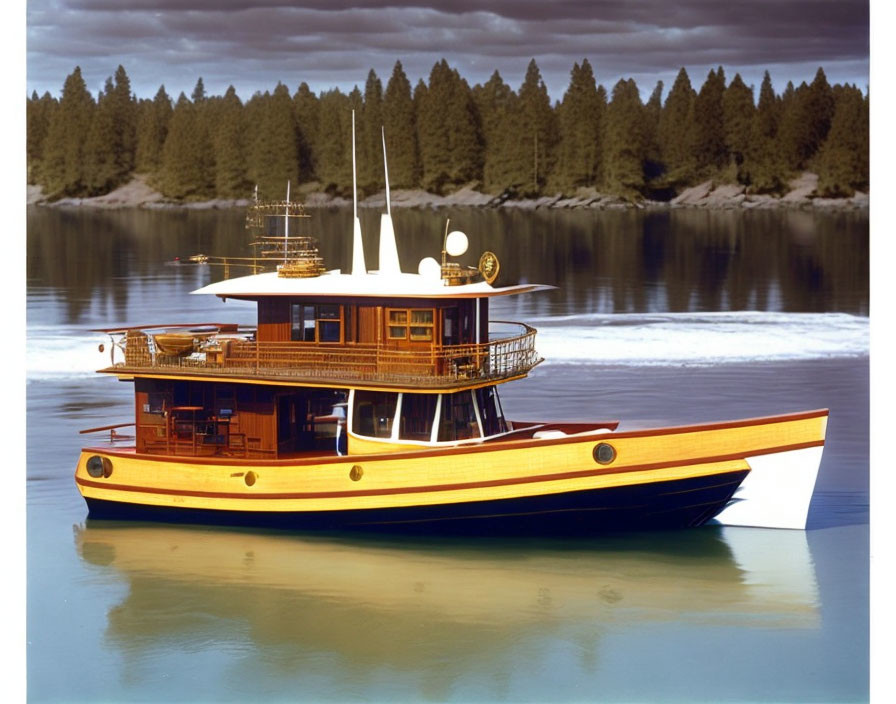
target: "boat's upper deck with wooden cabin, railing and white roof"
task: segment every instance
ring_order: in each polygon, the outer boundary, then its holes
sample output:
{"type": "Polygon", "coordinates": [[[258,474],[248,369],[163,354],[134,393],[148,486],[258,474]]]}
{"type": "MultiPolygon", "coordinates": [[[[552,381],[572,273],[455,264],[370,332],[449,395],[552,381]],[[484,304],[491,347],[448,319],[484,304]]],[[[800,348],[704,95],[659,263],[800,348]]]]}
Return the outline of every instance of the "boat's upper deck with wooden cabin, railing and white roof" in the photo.
{"type": "Polygon", "coordinates": [[[124,359],[113,356],[112,366],[101,371],[125,377],[422,391],[509,381],[541,361],[535,330],[490,320],[489,301],[544,287],[493,287],[487,267],[497,266],[494,255],[483,255],[486,273],[481,273],[483,266],[462,268],[447,261],[444,250],[441,266],[429,260],[428,267],[421,263],[423,273],[402,273],[391,219],[384,216],[380,271],[367,271],[363,261],[360,270],[356,261],[350,274],[325,271],[313,238],[296,234],[306,218],[295,203],[256,205],[247,223],[263,256],[253,258],[250,266],[257,270],[276,262],[276,270],[194,291],[254,301],[256,327],[107,330],[113,335],[113,352],[116,346],[123,349],[124,359]]]}

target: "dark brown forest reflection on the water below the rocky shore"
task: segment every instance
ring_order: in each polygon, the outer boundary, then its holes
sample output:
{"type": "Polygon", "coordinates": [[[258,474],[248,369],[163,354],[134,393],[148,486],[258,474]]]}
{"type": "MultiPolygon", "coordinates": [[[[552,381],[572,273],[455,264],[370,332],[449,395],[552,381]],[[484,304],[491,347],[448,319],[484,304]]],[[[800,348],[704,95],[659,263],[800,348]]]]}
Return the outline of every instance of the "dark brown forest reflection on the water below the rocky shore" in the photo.
{"type": "MultiPolygon", "coordinates": [[[[379,213],[362,210],[368,268],[376,268],[379,213]]],[[[325,265],[351,263],[351,213],[312,211],[325,265]]],[[[567,311],[770,310],[868,314],[868,217],[862,212],[397,210],[401,265],[438,258],[445,220],[470,238],[463,261],[498,255],[495,285],[558,289],[532,299],[538,314],[567,311]]],[[[233,211],[81,212],[29,209],[28,279],[67,291],[70,322],[91,307],[121,321],[135,277],[196,253],[250,254],[233,211]]],[[[466,261],[469,260],[469,261],[466,261]]],[[[182,264],[188,266],[187,264],[182,264]]],[[[223,268],[204,268],[220,279],[223,268]]],[[[236,275],[236,270],[231,275],[236,275]]],[[[184,293],[187,293],[185,290],[184,293]]]]}

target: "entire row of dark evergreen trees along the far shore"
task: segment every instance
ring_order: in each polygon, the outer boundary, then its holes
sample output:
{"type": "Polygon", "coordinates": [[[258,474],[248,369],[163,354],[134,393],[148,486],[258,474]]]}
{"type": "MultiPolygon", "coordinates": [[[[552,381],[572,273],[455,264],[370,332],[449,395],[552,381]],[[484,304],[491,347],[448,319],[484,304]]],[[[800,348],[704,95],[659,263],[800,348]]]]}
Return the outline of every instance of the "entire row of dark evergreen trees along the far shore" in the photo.
{"type": "Polygon", "coordinates": [[[721,66],[699,90],[682,68],[665,99],[659,82],[645,103],[632,79],[608,94],[587,59],[554,104],[534,60],[517,91],[497,71],[471,88],[443,59],[413,88],[396,62],[385,90],[370,71],[363,93],[278,83],[246,102],[232,86],[208,96],[201,78],[189,98],[162,86],[137,99],[121,66],[94,99],[75,68],[59,99],[28,99],[28,182],[51,197],[107,193],[135,173],[183,200],[244,198],[256,184],[281,198],[287,181],[348,194],[352,110],[362,194],[384,186],[381,127],[393,188],[663,198],[714,179],[780,193],[803,170],[818,173],[822,195],[868,188],[868,97],[831,86],[821,68],[780,95],[766,71],[758,100],[721,66]]]}

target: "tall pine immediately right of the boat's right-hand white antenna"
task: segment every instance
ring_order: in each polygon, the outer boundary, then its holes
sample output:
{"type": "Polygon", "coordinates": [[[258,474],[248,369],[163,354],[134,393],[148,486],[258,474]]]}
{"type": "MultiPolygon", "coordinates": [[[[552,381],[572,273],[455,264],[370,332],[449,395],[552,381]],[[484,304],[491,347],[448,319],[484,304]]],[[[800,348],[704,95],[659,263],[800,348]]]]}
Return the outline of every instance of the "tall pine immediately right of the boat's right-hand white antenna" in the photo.
{"type": "Polygon", "coordinates": [[[415,188],[420,179],[420,154],[411,84],[395,62],[383,96],[383,121],[389,150],[389,182],[395,188],[415,188]]]}

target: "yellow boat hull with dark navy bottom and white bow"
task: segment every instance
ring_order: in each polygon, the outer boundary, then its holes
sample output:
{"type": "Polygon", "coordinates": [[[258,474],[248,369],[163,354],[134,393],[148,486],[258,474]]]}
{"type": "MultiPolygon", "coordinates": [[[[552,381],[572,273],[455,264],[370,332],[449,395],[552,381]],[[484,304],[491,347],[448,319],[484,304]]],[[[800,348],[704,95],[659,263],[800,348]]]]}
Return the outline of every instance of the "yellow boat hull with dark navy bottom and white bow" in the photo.
{"type": "Polygon", "coordinates": [[[75,480],[94,517],[551,533],[718,516],[803,528],[826,423],[827,411],[811,411],[303,460],[85,448],[75,480]]]}

